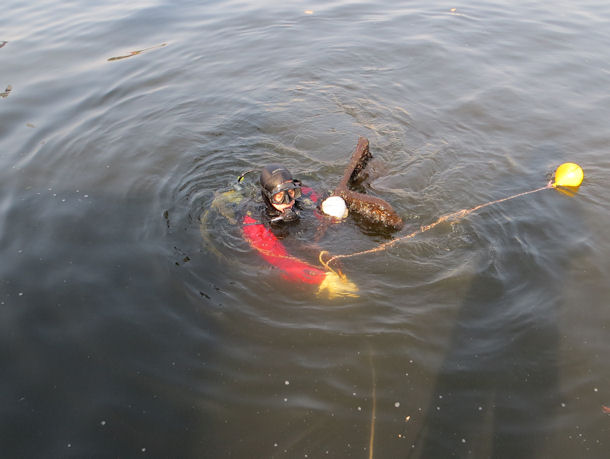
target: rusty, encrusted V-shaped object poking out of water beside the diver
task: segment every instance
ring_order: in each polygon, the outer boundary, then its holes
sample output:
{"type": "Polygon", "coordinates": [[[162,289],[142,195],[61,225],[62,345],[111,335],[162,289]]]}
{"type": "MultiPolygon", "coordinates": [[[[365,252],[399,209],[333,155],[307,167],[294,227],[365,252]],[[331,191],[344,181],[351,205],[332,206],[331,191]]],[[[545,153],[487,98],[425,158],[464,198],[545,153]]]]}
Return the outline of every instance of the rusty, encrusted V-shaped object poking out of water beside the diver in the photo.
{"type": "Polygon", "coordinates": [[[345,168],[343,178],[333,194],[341,196],[347,203],[350,211],[356,212],[371,223],[379,223],[392,230],[399,230],[403,225],[402,218],[390,204],[381,198],[357,193],[348,189],[348,186],[354,185],[359,181],[364,168],[372,157],[373,155],[369,151],[368,139],[360,137],[356,150],[354,150],[352,158],[345,168]]]}

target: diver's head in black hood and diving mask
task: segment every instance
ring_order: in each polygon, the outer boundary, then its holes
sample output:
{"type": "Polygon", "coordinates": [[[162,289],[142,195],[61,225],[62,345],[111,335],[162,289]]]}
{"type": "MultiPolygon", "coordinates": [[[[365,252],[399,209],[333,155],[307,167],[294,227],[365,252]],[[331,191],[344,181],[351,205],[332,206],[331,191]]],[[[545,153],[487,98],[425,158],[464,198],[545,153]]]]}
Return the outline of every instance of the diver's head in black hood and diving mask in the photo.
{"type": "Polygon", "coordinates": [[[288,169],[280,164],[265,166],[261,171],[260,184],[263,200],[269,210],[278,214],[278,220],[293,221],[299,218],[294,203],[301,196],[301,182],[293,179],[288,169]]]}

